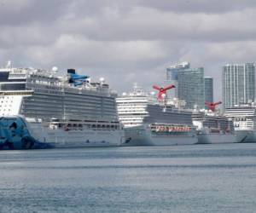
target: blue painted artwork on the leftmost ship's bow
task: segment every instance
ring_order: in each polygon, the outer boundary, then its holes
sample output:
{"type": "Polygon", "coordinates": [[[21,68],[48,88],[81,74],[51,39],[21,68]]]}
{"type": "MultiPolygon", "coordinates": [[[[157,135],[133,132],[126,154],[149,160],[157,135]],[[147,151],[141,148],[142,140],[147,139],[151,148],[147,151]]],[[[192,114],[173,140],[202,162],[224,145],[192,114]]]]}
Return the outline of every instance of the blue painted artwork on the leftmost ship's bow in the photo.
{"type": "Polygon", "coordinates": [[[0,117],[0,150],[42,148],[50,148],[50,146],[32,137],[23,118],[0,117]]]}

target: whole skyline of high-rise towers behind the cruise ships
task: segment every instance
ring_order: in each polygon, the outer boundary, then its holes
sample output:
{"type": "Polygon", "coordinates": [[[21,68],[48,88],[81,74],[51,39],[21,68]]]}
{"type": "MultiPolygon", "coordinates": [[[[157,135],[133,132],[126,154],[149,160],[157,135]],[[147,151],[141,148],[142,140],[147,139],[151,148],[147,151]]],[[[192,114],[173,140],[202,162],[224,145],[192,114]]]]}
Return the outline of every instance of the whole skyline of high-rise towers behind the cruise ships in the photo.
{"type": "MultiPolygon", "coordinates": [[[[186,101],[186,107],[203,108],[203,101],[208,103],[217,101],[214,100],[216,89],[213,88],[213,78],[205,76],[203,67],[191,68],[190,61],[177,62],[168,66],[166,83],[172,83],[176,87],[175,90],[172,89],[172,93],[169,92],[169,97],[186,101]],[[201,78],[203,81],[200,80],[201,78]]],[[[255,64],[247,62],[224,65],[220,90],[222,99],[218,101],[223,103],[223,109],[253,103],[255,101],[255,64]]]]}

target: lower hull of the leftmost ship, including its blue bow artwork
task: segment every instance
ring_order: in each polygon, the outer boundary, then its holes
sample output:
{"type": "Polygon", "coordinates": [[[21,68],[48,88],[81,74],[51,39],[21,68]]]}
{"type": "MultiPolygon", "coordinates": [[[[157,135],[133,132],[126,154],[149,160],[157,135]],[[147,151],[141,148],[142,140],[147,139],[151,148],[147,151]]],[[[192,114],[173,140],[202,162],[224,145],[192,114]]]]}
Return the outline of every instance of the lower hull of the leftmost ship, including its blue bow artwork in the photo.
{"type": "Polygon", "coordinates": [[[122,129],[50,129],[49,125],[30,123],[19,116],[2,117],[0,127],[0,149],[119,147],[125,139],[122,129]]]}

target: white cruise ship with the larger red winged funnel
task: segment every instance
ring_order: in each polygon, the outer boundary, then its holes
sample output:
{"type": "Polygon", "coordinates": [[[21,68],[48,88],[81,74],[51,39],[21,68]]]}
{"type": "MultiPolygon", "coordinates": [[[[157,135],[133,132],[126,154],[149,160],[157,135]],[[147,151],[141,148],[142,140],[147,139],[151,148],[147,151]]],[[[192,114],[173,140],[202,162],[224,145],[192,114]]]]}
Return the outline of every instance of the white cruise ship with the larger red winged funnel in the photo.
{"type": "Polygon", "coordinates": [[[124,124],[125,146],[170,146],[198,142],[192,113],[166,103],[166,89],[158,98],[135,86],[117,98],[119,121],[124,124]]]}

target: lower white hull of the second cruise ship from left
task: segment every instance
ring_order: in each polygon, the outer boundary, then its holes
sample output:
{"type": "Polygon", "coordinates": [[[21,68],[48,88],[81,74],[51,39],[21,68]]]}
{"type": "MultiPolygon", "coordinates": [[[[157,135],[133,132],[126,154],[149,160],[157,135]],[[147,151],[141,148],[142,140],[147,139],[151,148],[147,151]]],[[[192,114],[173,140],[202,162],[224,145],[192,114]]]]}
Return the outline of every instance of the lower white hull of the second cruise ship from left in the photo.
{"type": "Polygon", "coordinates": [[[155,135],[145,126],[125,128],[123,146],[176,146],[190,145],[198,142],[195,132],[183,135],[155,135]]]}

